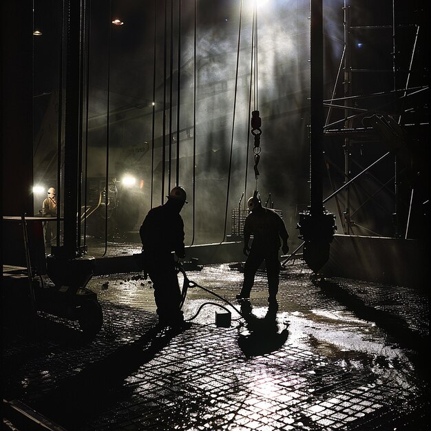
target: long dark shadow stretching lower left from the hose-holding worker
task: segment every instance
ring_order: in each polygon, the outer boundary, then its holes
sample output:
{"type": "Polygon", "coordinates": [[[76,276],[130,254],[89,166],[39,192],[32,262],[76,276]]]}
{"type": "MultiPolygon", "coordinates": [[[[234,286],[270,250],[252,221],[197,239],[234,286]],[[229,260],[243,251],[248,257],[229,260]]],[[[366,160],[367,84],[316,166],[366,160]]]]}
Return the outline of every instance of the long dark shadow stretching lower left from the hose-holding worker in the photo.
{"type": "Polygon", "coordinates": [[[145,372],[145,365],[181,332],[160,326],[150,328],[139,339],[61,379],[32,407],[67,430],[83,429],[87,421],[128,399],[136,390],[129,377],[139,370],[145,372]]]}

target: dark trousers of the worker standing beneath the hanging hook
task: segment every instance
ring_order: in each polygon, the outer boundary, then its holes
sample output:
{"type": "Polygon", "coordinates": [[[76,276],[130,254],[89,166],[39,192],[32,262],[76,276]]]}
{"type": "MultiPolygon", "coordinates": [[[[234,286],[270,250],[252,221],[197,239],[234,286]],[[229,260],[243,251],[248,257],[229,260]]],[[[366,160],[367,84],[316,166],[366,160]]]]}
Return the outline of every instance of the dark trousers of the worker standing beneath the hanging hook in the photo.
{"type": "Polygon", "coordinates": [[[255,274],[262,262],[265,261],[266,277],[268,279],[269,297],[275,299],[278,293],[278,282],[280,276],[280,260],[278,249],[264,250],[260,247],[251,246],[249,255],[244,264],[244,282],[240,295],[250,297],[251,288],[255,281],[255,274]]]}

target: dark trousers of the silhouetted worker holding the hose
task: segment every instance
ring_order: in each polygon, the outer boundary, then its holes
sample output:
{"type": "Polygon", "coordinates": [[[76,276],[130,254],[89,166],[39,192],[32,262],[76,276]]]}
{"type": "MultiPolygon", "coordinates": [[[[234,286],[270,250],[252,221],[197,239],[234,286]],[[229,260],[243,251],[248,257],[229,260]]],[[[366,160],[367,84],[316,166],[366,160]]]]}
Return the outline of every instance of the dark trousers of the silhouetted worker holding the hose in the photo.
{"type": "Polygon", "coordinates": [[[182,322],[184,318],[180,310],[181,290],[174,255],[166,253],[145,257],[145,267],[153,282],[159,322],[167,325],[182,322]]]}

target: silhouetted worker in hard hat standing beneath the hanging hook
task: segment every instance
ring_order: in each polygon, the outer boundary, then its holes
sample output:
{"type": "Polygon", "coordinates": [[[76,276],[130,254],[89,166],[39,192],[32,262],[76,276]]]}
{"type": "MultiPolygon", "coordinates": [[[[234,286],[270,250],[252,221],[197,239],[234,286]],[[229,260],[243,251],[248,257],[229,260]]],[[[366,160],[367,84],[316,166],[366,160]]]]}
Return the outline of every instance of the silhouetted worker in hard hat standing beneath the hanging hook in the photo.
{"type": "Polygon", "coordinates": [[[278,282],[280,276],[280,260],[278,250],[280,249],[280,238],[282,239],[282,251],[288,253],[288,233],[280,215],[273,209],[262,207],[262,202],[257,198],[257,192],[247,201],[249,215],[244,222],[244,249],[247,256],[244,264],[244,282],[241,292],[236,295],[237,299],[249,299],[253,287],[255,274],[259,266],[265,261],[266,277],[268,278],[268,301],[276,301],[278,293],[278,282]],[[251,248],[249,241],[253,235],[251,248]]]}

